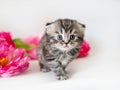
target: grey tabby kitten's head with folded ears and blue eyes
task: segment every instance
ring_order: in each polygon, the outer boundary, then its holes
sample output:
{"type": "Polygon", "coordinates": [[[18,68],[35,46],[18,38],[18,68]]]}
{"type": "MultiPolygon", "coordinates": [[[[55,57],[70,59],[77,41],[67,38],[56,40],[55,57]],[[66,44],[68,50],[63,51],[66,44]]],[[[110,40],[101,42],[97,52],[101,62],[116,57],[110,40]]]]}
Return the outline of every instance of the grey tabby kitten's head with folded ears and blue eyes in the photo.
{"type": "Polygon", "coordinates": [[[46,35],[52,47],[60,50],[79,48],[83,42],[85,25],[70,19],[46,24],[46,35]]]}

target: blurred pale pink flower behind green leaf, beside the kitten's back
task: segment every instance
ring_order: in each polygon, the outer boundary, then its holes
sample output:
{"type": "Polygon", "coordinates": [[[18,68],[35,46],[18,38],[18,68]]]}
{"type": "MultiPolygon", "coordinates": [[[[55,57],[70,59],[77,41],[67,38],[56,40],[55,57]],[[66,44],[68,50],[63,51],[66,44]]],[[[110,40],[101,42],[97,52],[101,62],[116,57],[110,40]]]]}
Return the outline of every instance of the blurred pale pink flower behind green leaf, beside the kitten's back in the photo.
{"type": "Polygon", "coordinates": [[[24,43],[33,46],[33,48],[27,50],[27,54],[31,58],[31,60],[38,59],[37,54],[36,54],[36,48],[37,48],[39,41],[40,41],[40,38],[38,36],[31,36],[31,37],[23,39],[24,43]]]}

